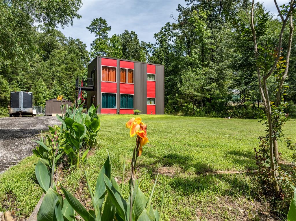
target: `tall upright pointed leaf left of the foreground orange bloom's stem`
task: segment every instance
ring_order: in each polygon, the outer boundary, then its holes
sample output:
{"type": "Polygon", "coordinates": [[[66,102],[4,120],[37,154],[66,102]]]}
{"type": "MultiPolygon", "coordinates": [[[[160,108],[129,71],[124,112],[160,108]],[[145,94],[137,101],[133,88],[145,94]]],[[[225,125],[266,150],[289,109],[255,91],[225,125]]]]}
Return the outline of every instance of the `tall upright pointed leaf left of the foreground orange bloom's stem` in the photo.
{"type": "Polygon", "coordinates": [[[102,204],[104,202],[105,194],[106,194],[106,186],[104,182],[104,174],[110,179],[111,178],[111,163],[110,163],[110,156],[108,157],[102,166],[102,169],[96,179],[96,190],[94,193],[94,207],[102,210],[102,204]]]}

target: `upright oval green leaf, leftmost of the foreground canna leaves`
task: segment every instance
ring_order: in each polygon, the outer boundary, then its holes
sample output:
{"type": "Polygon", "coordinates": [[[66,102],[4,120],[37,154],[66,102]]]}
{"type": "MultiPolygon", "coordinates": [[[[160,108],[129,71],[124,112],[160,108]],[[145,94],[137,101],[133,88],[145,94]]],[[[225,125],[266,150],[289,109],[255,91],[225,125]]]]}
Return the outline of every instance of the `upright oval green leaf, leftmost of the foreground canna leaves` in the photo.
{"type": "Polygon", "coordinates": [[[35,175],[38,180],[39,185],[41,186],[44,193],[46,193],[50,187],[50,181],[51,181],[51,174],[47,168],[47,166],[41,162],[38,161],[36,167],[35,167],[35,175]]]}

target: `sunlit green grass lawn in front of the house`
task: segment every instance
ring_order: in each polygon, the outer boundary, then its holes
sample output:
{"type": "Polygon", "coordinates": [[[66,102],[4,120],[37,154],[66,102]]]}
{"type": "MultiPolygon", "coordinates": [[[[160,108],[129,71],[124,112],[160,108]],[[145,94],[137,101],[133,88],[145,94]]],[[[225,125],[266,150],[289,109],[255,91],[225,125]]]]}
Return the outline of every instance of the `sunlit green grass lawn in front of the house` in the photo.
{"type": "MultiPolygon", "coordinates": [[[[113,176],[121,180],[123,159],[126,176],[123,194],[128,197],[129,163],[135,138],[129,137],[125,123],[133,115],[100,115],[100,148],[88,156],[91,186],[110,153],[113,176]]],[[[256,168],[254,147],[264,126],[257,120],[196,118],[140,115],[147,123],[150,142],[138,159],[137,176],[143,179],[142,191],[149,196],[155,176],[160,172],[153,197],[153,207],[160,207],[166,189],[164,220],[261,220],[266,205],[256,200],[247,175],[205,176],[202,172],[247,170],[256,168]],[[243,211],[243,212],[242,212],[243,211]],[[261,211],[261,212],[260,212],[261,211]]],[[[284,133],[296,141],[296,120],[284,126],[284,133]]],[[[291,160],[291,152],[279,143],[283,159],[291,160]]],[[[36,157],[27,157],[19,165],[0,175],[2,210],[12,209],[25,217],[42,194],[34,176],[36,157]]],[[[120,182],[120,181],[119,181],[120,182]]],[[[81,170],[65,171],[62,181],[67,189],[89,207],[89,195],[81,170]]]]}

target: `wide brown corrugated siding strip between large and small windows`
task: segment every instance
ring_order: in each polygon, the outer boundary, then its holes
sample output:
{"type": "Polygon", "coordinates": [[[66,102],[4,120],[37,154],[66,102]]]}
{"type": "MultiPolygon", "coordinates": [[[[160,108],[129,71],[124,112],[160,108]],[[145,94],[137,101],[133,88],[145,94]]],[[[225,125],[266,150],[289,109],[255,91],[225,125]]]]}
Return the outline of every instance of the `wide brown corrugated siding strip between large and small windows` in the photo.
{"type": "Polygon", "coordinates": [[[147,65],[135,61],[134,63],[134,83],[135,83],[135,96],[134,104],[135,109],[147,113],[147,65]]]}

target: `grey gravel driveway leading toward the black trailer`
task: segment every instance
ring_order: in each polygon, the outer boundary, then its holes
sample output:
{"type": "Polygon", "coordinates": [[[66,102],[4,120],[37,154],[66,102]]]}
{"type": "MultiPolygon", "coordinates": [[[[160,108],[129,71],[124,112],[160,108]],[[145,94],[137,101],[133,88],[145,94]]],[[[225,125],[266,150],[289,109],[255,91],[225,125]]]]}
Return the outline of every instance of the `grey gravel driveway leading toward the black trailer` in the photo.
{"type": "Polygon", "coordinates": [[[48,125],[60,124],[56,117],[0,118],[0,173],[32,155],[34,142],[48,125]]]}

